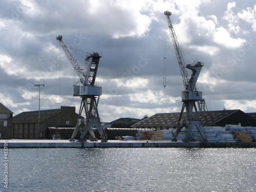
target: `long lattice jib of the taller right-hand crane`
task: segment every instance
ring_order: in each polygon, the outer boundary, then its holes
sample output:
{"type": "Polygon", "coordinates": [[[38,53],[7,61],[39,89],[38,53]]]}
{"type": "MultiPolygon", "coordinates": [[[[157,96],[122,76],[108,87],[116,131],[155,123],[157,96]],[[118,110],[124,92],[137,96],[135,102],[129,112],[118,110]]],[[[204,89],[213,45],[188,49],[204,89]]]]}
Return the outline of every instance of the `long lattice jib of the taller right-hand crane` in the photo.
{"type": "Polygon", "coordinates": [[[165,11],[164,14],[166,15],[166,18],[167,18],[168,27],[169,27],[169,31],[170,31],[170,36],[172,36],[174,49],[175,49],[175,53],[176,53],[177,60],[178,60],[178,63],[179,63],[183,84],[184,84],[185,89],[189,90],[190,89],[190,81],[189,81],[189,77],[188,77],[188,74],[187,74],[185,62],[184,62],[184,59],[183,59],[183,56],[182,56],[182,52],[181,52],[181,49],[180,49],[180,45],[179,45],[177,36],[176,36],[174,28],[173,28],[172,21],[170,20],[170,15],[172,15],[172,13],[169,12],[169,11],[165,11]]]}

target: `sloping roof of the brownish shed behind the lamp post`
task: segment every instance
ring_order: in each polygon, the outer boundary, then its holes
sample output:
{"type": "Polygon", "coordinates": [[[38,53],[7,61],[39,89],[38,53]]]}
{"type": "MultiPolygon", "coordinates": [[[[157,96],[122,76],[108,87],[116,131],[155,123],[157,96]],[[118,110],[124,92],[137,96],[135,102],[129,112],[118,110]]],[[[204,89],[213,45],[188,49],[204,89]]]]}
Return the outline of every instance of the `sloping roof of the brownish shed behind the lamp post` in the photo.
{"type": "MultiPolygon", "coordinates": [[[[45,121],[60,113],[60,109],[40,110],[40,122],[45,121]]],[[[22,112],[13,117],[14,123],[38,122],[38,111],[22,112]]]]}

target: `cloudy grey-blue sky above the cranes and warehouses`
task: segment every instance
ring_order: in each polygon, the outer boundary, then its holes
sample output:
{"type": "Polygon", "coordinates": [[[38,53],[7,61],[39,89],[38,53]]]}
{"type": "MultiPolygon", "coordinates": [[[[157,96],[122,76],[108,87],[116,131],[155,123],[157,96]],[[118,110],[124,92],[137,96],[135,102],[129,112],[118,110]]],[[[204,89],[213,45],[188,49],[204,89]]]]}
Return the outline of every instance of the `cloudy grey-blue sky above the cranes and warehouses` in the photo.
{"type": "Polygon", "coordinates": [[[38,83],[46,84],[41,110],[78,112],[72,89],[79,79],[57,35],[83,67],[79,50],[102,53],[96,81],[103,121],[180,112],[184,87],[166,10],[182,46],[204,62],[197,87],[208,110],[256,112],[255,0],[1,0],[0,10],[0,102],[14,115],[38,110],[38,83]]]}

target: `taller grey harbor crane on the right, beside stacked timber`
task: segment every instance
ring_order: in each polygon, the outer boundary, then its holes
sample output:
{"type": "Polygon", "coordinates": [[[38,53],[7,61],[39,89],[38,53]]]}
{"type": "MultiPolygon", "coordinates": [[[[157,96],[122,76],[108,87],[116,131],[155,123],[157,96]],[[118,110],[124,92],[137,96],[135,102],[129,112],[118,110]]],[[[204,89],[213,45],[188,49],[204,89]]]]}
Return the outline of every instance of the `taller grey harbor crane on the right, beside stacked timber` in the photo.
{"type": "Polygon", "coordinates": [[[196,87],[196,82],[200,74],[200,71],[204,66],[204,63],[197,61],[195,63],[189,63],[185,65],[183,54],[182,54],[177,36],[174,31],[172,21],[170,19],[170,15],[172,15],[172,13],[169,11],[165,11],[164,15],[167,18],[170,35],[172,36],[175,53],[179,63],[183,84],[185,87],[185,91],[181,92],[181,100],[183,104],[182,104],[182,109],[181,109],[181,113],[178,120],[178,128],[175,132],[175,135],[172,141],[175,141],[175,142],[177,141],[177,136],[179,135],[183,127],[185,127],[185,138],[182,141],[183,142],[196,141],[196,139],[192,134],[192,130],[196,126],[198,132],[200,133],[203,139],[203,142],[207,142],[206,134],[205,134],[204,128],[201,126],[201,121],[200,121],[197,106],[196,106],[196,102],[199,102],[199,103],[204,102],[204,99],[202,98],[202,92],[198,91],[196,87]],[[192,71],[190,78],[188,76],[186,69],[189,69],[192,71]],[[184,109],[186,109],[187,120],[181,120],[184,109]],[[195,109],[196,117],[193,117],[193,109],[195,109]]]}

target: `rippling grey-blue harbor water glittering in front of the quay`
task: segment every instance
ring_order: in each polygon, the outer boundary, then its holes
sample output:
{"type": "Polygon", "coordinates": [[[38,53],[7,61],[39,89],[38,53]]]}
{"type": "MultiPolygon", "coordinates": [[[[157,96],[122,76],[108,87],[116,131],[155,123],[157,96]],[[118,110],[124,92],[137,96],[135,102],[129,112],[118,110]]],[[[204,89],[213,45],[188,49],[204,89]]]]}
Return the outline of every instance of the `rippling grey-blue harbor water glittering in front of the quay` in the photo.
{"type": "Polygon", "coordinates": [[[10,148],[0,191],[256,191],[255,148],[10,148]]]}

